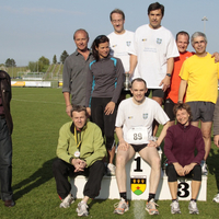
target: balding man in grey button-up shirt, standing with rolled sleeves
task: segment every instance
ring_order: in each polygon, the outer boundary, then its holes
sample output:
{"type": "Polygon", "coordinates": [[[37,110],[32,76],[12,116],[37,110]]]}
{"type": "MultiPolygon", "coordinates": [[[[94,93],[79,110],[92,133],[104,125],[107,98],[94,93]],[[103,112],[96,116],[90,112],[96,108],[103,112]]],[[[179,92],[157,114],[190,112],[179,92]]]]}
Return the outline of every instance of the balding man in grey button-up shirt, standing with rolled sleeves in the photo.
{"type": "Polygon", "coordinates": [[[73,34],[73,41],[77,49],[65,60],[62,73],[62,93],[66,101],[66,113],[69,116],[72,105],[85,105],[87,72],[93,60],[88,48],[88,32],[82,28],[77,30],[73,34]]]}

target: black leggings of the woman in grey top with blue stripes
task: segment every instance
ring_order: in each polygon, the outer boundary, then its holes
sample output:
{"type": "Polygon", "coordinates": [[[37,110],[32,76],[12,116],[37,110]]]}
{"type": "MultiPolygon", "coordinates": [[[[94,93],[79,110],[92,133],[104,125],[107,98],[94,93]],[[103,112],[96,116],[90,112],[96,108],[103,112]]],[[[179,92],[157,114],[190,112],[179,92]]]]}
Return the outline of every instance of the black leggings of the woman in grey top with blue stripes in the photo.
{"type": "Polygon", "coordinates": [[[105,115],[104,110],[112,97],[92,97],[91,100],[91,118],[102,130],[106,138],[106,149],[111,150],[114,143],[114,129],[117,114],[117,105],[113,114],[105,115]]]}

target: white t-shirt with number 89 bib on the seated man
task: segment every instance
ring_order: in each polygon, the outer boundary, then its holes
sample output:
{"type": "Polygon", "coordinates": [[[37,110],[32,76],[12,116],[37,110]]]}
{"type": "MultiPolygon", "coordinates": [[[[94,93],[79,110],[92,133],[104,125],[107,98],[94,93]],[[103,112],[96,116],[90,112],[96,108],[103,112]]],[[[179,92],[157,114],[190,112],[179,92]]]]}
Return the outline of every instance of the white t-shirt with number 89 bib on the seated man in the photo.
{"type": "Polygon", "coordinates": [[[146,97],[140,105],[132,97],[122,101],[116,116],[116,127],[123,127],[124,140],[128,143],[148,143],[152,136],[152,123],[166,124],[170,119],[163,108],[153,100],[146,97]]]}

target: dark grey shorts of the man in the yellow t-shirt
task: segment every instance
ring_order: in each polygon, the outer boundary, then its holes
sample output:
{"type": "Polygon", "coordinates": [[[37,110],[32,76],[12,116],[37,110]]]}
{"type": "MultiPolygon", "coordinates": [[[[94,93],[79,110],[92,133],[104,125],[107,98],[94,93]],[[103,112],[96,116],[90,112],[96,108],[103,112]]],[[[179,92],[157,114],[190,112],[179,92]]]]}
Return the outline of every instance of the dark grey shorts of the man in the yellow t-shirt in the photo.
{"type": "Polygon", "coordinates": [[[212,122],[215,104],[211,102],[194,101],[187,102],[191,106],[193,119],[192,122],[212,122]]]}

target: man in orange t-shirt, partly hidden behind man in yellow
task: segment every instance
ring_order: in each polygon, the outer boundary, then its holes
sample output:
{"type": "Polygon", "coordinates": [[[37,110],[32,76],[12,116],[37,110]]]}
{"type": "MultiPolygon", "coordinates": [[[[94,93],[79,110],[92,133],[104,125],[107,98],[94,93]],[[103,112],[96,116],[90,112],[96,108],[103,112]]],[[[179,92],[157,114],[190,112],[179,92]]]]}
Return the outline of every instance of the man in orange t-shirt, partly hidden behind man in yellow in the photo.
{"type": "Polygon", "coordinates": [[[171,78],[171,85],[170,85],[170,90],[168,91],[166,100],[164,104],[164,111],[170,118],[171,125],[175,124],[175,115],[173,113],[173,106],[175,103],[177,103],[177,99],[178,99],[178,88],[181,83],[181,78],[178,74],[181,71],[181,67],[183,66],[183,62],[188,57],[193,56],[194,54],[186,50],[188,47],[188,44],[189,44],[188,33],[184,31],[178,32],[176,34],[176,45],[180,53],[180,57],[174,58],[174,68],[173,68],[173,73],[171,78]]]}

